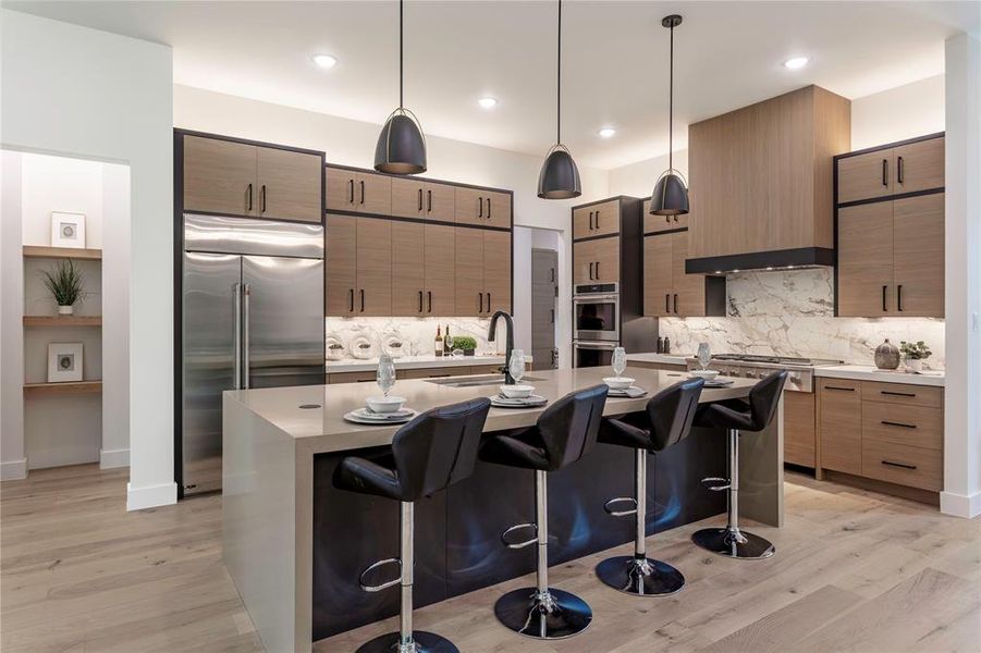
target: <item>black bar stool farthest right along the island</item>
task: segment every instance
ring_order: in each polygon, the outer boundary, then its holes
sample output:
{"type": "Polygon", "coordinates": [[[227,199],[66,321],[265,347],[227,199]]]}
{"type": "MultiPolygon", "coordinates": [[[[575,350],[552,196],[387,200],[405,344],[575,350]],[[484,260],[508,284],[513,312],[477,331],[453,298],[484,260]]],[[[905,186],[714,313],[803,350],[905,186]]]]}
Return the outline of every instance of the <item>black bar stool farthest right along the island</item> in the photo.
{"type": "Polygon", "coordinates": [[[725,528],[703,528],[691,535],[691,541],[702,549],[751,560],[773,555],[775,550],[768,540],[739,530],[739,432],[762,431],[770,426],[786,381],[786,370],[773,372],[749,391],[748,405],[741,399],[715,402],[702,405],[696,414],[696,427],[728,431],[729,478],[702,479],[703,483],[718,483],[710,485],[709,490],[728,490],[728,519],[725,528]]]}

